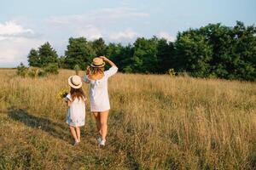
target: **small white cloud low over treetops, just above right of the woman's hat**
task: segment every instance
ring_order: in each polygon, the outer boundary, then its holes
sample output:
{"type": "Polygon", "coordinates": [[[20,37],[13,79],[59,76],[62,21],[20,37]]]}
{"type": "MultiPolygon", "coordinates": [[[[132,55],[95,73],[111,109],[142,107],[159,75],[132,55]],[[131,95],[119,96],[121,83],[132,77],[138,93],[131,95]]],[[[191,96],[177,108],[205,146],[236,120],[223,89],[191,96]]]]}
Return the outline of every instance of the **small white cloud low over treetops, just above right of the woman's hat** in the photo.
{"type": "Polygon", "coordinates": [[[125,31],[113,32],[110,34],[110,40],[121,41],[121,40],[131,40],[135,37],[138,37],[138,33],[136,31],[132,31],[131,29],[126,29],[125,31]]]}

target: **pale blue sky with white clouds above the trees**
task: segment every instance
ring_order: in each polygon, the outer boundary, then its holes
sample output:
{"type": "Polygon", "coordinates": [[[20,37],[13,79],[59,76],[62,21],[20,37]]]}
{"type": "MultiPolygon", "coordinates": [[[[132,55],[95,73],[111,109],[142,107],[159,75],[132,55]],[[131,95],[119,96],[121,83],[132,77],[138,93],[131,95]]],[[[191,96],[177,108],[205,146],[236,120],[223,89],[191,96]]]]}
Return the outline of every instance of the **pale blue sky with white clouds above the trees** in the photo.
{"type": "Polygon", "coordinates": [[[127,44],[137,37],[175,41],[178,31],[209,23],[256,24],[255,0],[0,0],[0,67],[27,65],[49,42],[65,54],[69,37],[127,44]]]}

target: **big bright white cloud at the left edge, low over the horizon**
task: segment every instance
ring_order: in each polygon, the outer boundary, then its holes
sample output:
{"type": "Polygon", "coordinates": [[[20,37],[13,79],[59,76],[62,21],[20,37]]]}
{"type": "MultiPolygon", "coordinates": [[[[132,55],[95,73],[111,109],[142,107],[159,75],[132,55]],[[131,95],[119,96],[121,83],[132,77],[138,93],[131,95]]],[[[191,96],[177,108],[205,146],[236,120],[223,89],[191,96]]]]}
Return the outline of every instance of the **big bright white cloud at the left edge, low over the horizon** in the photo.
{"type": "Polygon", "coordinates": [[[14,21],[0,23],[0,67],[15,67],[20,62],[26,64],[29,50],[43,43],[34,35],[34,31],[14,21]]]}

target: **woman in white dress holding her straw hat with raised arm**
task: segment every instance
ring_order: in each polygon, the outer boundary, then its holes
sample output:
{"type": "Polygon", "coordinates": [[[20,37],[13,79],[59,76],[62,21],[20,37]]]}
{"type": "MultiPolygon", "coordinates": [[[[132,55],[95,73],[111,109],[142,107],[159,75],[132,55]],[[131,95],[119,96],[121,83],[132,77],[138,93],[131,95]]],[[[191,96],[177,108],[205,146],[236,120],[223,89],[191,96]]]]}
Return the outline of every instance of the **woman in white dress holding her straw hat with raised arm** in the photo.
{"type": "Polygon", "coordinates": [[[90,111],[96,118],[96,127],[101,137],[98,138],[100,146],[105,146],[108,131],[108,112],[110,110],[108,99],[108,78],[118,71],[117,66],[105,56],[93,59],[87,68],[84,82],[90,83],[90,111]],[[111,65],[108,71],[104,71],[105,62],[111,65]]]}

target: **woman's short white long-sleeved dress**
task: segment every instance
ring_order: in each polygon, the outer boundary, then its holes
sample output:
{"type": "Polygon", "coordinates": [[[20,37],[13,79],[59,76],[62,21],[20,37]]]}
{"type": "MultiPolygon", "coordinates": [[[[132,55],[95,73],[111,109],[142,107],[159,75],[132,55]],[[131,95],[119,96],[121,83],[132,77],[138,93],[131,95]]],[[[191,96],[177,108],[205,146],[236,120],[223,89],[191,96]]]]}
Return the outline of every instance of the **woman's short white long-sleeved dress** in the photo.
{"type": "Polygon", "coordinates": [[[108,99],[108,78],[112,77],[118,68],[112,66],[108,71],[104,71],[104,76],[99,80],[90,80],[86,75],[84,82],[90,83],[90,111],[101,112],[110,110],[108,99]]]}

